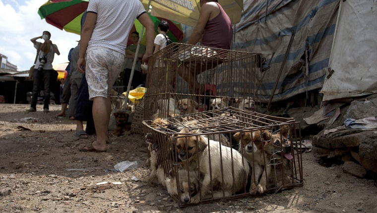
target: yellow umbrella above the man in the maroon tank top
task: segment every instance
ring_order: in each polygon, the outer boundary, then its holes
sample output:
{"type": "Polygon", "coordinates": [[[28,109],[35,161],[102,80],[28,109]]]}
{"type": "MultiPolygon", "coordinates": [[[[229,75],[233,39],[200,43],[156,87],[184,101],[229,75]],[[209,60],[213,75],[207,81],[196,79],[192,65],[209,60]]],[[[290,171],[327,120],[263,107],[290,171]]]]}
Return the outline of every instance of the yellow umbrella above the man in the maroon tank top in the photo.
{"type": "MultiPolygon", "coordinates": [[[[164,17],[188,26],[194,27],[199,19],[200,0],[151,0],[151,15],[164,17]]],[[[244,9],[243,0],[218,0],[224,11],[228,14],[232,24],[241,20],[241,12],[244,9]]],[[[149,0],[142,0],[145,6],[149,0]]],[[[149,9],[146,7],[146,9],[149,9]]]]}

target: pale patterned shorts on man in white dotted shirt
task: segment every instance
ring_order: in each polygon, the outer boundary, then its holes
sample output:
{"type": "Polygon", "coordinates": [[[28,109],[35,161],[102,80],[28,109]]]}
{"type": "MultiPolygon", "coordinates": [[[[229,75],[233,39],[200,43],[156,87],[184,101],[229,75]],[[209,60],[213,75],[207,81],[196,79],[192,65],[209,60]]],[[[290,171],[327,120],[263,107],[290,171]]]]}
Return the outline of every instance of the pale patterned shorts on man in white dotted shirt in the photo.
{"type": "Polygon", "coordinates": [[[93,100],[94,97],[107,98],[123,69],[124,54],[100,48],[86,52],[85,60],[89,100],[93,100]]]}

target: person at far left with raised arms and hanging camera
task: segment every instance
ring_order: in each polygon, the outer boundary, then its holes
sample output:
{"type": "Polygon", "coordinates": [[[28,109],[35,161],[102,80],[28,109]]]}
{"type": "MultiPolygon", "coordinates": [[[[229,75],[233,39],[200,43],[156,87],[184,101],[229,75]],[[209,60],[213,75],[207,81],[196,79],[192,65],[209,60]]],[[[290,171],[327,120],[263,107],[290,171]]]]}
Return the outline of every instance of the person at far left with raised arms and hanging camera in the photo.
{"type": "Polygon", "coordinates": [[[38,60],[34,66],[33,72],[33,98],[31,99],[31,106],[27,110],[29,112],[37,111],[38,93],[43,84],[44,106],[43,111],[49,112],[50,103],[50,76],[53,72],[53,61],[55,53],[60,55],[58,47],[50,40],[51,33],[43,31],[42,36],[30,39],[34,44],[34,48],[40,50],[38,53],[38,60]],[[43,39],[45,42],[37,42],[37,39],[43,39]]]}

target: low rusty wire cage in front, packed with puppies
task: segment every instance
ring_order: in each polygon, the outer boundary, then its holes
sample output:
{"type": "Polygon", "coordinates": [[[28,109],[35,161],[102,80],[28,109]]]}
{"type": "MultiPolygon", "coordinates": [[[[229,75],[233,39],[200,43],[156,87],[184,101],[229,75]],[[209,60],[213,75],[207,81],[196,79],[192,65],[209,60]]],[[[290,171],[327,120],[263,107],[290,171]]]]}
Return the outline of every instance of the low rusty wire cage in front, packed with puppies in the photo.
{"type": "Polygon", "coordinates": [[[300,122],[227,107],[145,120],[151,174],[181,207],[303,185],[300,122]]]}

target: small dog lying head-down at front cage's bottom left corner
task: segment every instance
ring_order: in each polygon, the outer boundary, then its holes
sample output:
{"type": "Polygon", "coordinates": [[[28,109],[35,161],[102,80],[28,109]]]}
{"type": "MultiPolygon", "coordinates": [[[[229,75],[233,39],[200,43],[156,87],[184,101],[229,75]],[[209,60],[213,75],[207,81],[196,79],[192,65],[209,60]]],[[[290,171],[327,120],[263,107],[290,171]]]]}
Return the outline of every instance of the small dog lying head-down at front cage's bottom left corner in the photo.
{"type": "Polygon", "coordinates": [[[199,193],[199,179],[197,170],[187,171],[187,169],[178,169],[179,186],[177,187],[177,175],[174,170],[169,172],[166,178],[166,188],[171,196],[178,196],[180,189],[180,200],[182,203],[198,203],[197,194],[199,193]]]}

